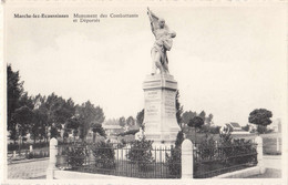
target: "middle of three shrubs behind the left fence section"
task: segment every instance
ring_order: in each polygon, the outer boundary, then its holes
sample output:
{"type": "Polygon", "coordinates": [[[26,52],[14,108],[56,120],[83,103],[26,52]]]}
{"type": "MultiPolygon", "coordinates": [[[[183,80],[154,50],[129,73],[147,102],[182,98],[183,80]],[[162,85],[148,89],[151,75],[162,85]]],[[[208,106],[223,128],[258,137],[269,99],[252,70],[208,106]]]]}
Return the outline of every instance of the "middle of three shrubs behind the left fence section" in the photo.
{"type": "Polygon", "coordinates": [[[95,166],[100,168],[114,168],[115,167],[115,152],[112,143],[103,141],[95,143],[91,146],[93,156],[95,157],[95,166]]]}

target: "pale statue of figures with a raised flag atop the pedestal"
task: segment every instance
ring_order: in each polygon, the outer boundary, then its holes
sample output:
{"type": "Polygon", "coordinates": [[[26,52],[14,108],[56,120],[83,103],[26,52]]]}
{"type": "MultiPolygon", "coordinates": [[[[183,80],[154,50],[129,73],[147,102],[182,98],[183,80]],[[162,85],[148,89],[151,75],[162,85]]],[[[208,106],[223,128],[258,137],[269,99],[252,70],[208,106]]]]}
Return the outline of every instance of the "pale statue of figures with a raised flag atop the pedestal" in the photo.
{"type": "Polygon", "coordinates": [[[151,50],[152,56],[152,75],[160,69],[161,74],[168,74],[168,58],[166,51],[172,48],[172,38],[176,37],[176,32],[169,31],[165,24],[165,20],[157,18],[148,8],[147,14],[150,17],[151,30],[155,35],[155,43],[151,50]]]}

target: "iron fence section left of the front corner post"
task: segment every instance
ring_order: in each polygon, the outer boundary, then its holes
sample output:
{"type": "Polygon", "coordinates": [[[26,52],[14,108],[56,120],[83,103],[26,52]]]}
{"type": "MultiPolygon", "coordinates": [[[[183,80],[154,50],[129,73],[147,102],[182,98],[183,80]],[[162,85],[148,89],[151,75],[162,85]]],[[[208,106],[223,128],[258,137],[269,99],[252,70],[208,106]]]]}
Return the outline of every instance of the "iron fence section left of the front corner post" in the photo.
{"type": "Polygon", "coordinates": [[[175,160],[175,153],[181,156],[181,148],[144,150],[117,144],[99,147],[88,143],[58,147],[56,165],[62,169],[137,178],[181,177],[181,161],[175,160]]]}

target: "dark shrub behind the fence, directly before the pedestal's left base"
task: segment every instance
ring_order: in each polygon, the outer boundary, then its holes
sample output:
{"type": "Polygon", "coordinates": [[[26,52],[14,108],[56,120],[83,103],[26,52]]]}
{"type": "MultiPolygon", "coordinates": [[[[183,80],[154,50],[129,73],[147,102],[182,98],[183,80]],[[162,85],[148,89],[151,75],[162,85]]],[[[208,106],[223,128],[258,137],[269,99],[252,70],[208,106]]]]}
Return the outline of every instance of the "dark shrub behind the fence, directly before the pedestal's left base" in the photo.
{"type": "Polygon", "coordinates": [[[131,142],[131,150],[127,158],[137,164],[140,171],[147,171],[150,164],[154,162],[152,156],[152,141],[147,141],[145,136],[141,141],[131,142]]]}

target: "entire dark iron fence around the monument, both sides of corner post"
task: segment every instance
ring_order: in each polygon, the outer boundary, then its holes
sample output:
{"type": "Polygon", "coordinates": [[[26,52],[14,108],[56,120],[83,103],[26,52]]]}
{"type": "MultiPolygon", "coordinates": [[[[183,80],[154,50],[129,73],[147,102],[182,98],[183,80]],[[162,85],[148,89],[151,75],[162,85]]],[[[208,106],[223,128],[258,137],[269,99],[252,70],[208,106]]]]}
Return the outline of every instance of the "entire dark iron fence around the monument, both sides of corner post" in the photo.
{"type": "MultiPolygon", "coordinates": [[[[202,145],[193,148],[193,176],[207,178],[257,164],[257,144],[202,145]]],[[[135,148],[131,145],[61,144],[58,167],[66,171],[138,178],[179,178],[181,147],[135,148]]],[[[188,164],[187,164],[188,165],[188,164]]]]}

